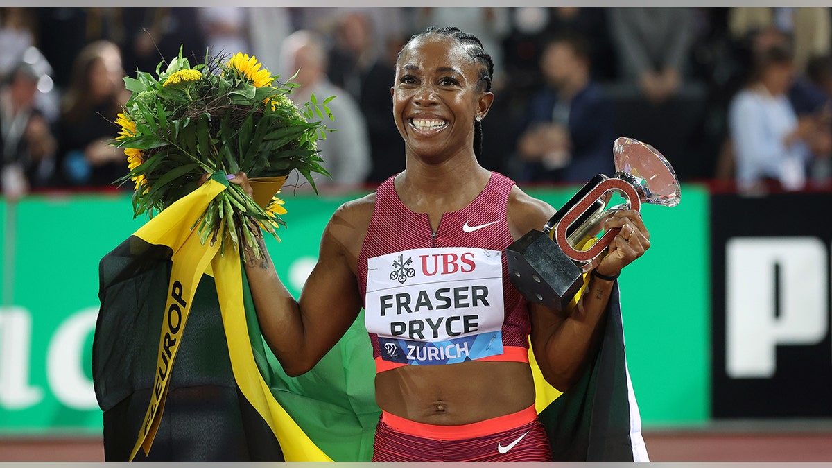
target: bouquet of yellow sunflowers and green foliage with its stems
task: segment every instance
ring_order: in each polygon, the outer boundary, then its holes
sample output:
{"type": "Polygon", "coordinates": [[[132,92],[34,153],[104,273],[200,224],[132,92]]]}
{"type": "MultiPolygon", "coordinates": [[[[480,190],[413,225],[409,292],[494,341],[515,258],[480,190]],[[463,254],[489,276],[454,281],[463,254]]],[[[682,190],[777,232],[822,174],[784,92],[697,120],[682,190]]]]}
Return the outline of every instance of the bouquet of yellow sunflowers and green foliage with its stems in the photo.
{"type": "Polygon", "coordinates": [[[327,103],[334,96],[319,102],[312,95],[299,108],[287,96],[298,86],[292,78],[279,82],[279,75],[242,52],[227,59],[206,54],[204,63],[191,67],[180,49],[161,71],[163,64],[156,77],[137,72],[124,78],[132,94],[116,119],[121,132],[112,144],[124,148],[130,169],[119,182],[136,183],[134,216],[161,212],[196,189],[206,173],[245,172],[253,186],[271,182],[270,193],[255,192],[258,203],[231,184],[191,229],[199,230],[203,244],[209,238],[222,242],[220,251],[227,238],[235,250],[244,241],[262,256],[250,222],[275,237],[275,229],[285,226],[276,194],[290,172],[300,172],[313,188],[313,173],[329,176],[316,144],[329,129],[310,120],[331,120],[327,103]]]}

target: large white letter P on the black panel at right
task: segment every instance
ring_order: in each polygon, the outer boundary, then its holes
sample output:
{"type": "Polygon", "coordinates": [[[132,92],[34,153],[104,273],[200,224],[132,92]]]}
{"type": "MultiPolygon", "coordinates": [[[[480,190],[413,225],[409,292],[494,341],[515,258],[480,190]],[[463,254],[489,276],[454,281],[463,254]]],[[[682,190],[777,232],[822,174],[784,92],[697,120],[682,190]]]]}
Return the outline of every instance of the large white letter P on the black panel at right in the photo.
{"type": "Polygon", "coordinates": [[[816,237],[745,237],[726,243],[728,376],[774,376],[775,346],[824,339],[829,285],[825,263],[826,248],[816,237]]]}

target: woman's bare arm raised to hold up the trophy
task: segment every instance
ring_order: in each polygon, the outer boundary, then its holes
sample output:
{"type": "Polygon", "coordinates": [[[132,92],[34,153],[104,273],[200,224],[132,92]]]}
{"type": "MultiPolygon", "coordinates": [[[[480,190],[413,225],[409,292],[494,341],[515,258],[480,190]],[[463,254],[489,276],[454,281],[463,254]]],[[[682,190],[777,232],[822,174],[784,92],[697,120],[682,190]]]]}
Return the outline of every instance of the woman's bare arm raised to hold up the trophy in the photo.
{"type": "MultiPolygon", "coordinates": [[[[541,202],[534,201],[525,194],[517,197],[513,207],[516,213],[514,218],[518,219],[516,226],[524,226],[527,231],[540,229],[553,212],[547,212],[541,202]],[[526,215],[525,222],[521,222],[517,216],[523,214],[526,215]]],[[[509,212],[512,212],[511,204],[509,212]]],[[[650,248],[650,233],[638,212],[617,212],[604,225],[605,230],[617,227],[621,231],[612,239],[607,256],[595,269],[602,276],[617,276],[624,266],[650,248]]],[[[530,304],[531,340],[535,359],[542,375],[558,390],[566,391],[572,387],[580,378],[587,359],[594,356],[613,283],[614,281],[591,274],[587,289],[583,291],[577,305],[565,311],[530,304]]]]}

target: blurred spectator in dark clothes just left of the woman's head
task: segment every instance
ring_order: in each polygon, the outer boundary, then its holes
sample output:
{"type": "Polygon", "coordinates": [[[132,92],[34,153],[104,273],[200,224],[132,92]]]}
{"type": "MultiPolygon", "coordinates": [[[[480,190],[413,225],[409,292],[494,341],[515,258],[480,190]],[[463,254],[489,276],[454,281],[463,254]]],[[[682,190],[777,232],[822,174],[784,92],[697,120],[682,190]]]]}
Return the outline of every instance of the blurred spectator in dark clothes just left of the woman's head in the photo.
{"type": "Polygon", "coordinates": [[[327,73],[336,86],[344,88],[358,103],[366,122],[372,159],[365,182],[380,183],[404,171],[404,161],[398,157],[404,148],[390,118],[393,98],[389,90],[394,69],[380,55],[373,30],[369,16],[362,12],[346,12],[339,17],[327,73]]]}

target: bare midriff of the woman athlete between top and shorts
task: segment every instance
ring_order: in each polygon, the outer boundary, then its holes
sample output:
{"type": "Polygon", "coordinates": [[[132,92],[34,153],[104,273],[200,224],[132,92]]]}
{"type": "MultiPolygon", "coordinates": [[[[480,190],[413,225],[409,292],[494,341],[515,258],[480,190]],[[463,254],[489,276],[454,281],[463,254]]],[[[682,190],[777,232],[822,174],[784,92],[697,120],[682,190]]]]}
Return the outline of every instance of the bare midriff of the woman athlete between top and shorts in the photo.
{"type": "Polygon", "coordinates": [[[375,393],[382,410],[438,426],[485,421],[534,404],[532,371],[513,361],[398,367],[375,377],[375,393]]]}

